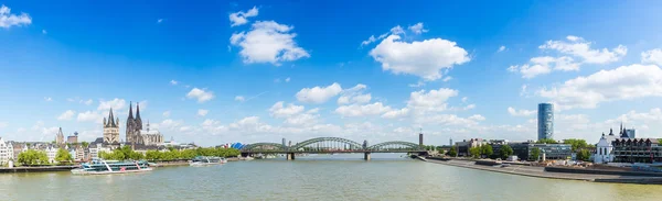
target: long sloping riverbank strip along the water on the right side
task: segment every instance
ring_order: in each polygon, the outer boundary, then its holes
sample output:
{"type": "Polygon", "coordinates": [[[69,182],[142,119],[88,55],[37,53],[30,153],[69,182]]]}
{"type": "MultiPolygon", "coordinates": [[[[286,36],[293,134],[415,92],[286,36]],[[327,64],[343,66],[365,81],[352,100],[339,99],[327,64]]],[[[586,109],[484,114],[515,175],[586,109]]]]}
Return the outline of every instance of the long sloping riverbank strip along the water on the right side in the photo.
{"type": "Polygon", "coordinates": [[[546,179],[565,179],[592,182],[618,182],[618,183],[640,183],[640,185],[662,185],[660,177],[641,177],[641,176],[620,176],[620,175],[595,175],[595,174],[570,174],[570,172],[551,172],[545,171],[544,167],[533,166],[509,166],[493,167],[476,165],[473,160],[436,160],[428,159],[428,163],[463,167],[470,169],[494,171],[501,174],[519,175],[526,177],[537,177],[546,179]]]}

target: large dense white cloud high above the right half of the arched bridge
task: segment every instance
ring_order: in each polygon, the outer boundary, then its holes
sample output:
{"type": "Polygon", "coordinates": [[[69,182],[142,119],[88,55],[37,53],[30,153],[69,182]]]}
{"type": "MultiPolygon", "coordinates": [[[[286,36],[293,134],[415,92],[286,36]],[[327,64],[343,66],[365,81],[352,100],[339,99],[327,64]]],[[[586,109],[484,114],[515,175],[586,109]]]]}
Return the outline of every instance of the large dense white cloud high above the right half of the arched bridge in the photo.
{"type": "Polygon", "coordinates": [[[370,55],[382,64],[382,69],[393,74],[410,74],[426,80],[441,78],[441,69],[451,68],[470,60],[467,51],[455,42],[431,38],[420,42],[403,42],[399,35],[383,40],[370,55]]]}

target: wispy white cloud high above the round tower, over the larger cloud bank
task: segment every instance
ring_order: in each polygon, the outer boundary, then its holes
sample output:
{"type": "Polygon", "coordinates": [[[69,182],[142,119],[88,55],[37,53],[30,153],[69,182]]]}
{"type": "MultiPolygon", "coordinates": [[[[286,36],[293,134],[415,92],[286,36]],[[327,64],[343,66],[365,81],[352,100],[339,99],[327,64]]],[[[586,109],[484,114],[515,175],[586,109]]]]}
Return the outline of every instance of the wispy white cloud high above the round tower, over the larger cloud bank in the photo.
{"type": "Polygon", "coordinates": [[[566,38],[569,42],[547,41],[545,44],[538,46],[538,48],[554,49],[563,54],[573,55],[583,58],[584,63],[587,64],[608,64],[617,62],[628,54],[628,48],[622,45],[618,45],[611,51],[607,48],[591,49],[591,43],[584,41],[581,37],[569,35],[566,38]]]}

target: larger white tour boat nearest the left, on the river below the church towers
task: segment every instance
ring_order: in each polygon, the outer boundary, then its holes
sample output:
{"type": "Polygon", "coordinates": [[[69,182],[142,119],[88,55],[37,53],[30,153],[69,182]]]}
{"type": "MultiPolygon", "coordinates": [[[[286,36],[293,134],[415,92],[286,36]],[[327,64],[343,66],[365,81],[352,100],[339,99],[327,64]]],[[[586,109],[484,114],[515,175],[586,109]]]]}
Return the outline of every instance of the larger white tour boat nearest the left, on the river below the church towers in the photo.
{"type": "Polygon", "coordinates": [[[81,168],[72,169],[74,175],[107,175],[107,174],[129,174],[151,171],[152,168],[145,160],[141,161],[119,161],[104,160],[95,158],[90,163],[81,165],[81,168]]]}

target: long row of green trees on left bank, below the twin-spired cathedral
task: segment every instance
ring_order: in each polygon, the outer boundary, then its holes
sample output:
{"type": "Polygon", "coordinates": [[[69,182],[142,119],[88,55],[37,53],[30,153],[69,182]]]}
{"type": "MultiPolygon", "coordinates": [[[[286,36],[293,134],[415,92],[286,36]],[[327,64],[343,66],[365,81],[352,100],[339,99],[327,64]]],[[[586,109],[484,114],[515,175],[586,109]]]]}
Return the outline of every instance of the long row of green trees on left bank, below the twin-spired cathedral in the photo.
{"type": "Polygon", "coordinates": [[[218,157],[235,157],[239,155],[241,152],[235,148],[196,148],[196,149],[184,149],[178,150],[174,148],[169,148],[167,152],[160,150],[147,150],[145,155],[142,153],[137,153],[131,149],[129,146],[124,146],[121,148],[117,148],[111,153],[99,153],[99,157],[105,159],[114,159],[114,160],[125,160],[125,159],[147,159],[147,160],[174,160],[174,159],[191,159],[195,156],[218,156],[218,157]]]}

